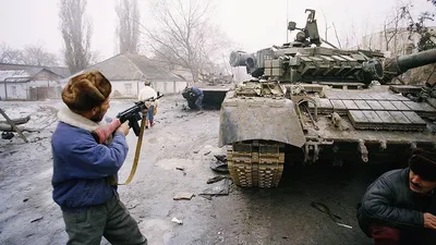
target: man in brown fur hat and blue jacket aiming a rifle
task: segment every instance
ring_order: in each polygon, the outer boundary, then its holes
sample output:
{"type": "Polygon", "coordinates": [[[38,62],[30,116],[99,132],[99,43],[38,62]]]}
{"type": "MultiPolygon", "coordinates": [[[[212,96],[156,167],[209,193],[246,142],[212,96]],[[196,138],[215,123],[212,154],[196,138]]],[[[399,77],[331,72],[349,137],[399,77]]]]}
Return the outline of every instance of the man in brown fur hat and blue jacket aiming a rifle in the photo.
{"type": "Polygon", "coordinates": [[[59,111],[52,135],[53,199],[61,207],[68,244],[147,244],[136,221],[130,216],[111,180],[128,155],[125,135],[129,121],[113,137],[98,144],[92,132],[106,123],[110,82],[97,71],[80,74],[62,90],[68,108],[59,111]]]}

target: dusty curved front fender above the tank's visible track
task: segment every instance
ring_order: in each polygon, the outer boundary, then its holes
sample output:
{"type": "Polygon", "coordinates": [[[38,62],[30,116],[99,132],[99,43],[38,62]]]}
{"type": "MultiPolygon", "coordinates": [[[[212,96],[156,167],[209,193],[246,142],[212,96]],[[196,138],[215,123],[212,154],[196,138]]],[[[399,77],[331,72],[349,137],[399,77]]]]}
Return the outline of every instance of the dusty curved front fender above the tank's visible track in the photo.
{"type": "Polygon", "coordinates": [[[292,100],[246,97],[226,99],[220,110],[220,147],[264,139],[302,147],[306,138],[292,100]]]}

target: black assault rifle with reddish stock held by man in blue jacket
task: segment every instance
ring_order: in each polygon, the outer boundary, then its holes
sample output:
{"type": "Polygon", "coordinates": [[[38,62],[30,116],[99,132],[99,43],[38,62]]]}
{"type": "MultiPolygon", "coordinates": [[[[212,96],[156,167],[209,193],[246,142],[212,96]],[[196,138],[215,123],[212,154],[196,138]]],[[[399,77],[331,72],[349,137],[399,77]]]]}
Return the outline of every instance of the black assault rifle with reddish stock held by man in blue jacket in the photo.
{"type": "Polygon", "coordinates": [[[148,103],[153,102],[164,95],[158,95],[156,98],[150,97],[145,100],[141,100],[135,102],[135,106],[120,112],[117,114],[117,118],[112,120],[108,125],[99,127],[92,132],[94,138],[99,143],[102,144],[121,124],[129,120],[129,127],[133,128],[133,132],[136,136],[140,136],[141,127],[137,121],[142,119],[142,111],[148,110],[148,103]]]}

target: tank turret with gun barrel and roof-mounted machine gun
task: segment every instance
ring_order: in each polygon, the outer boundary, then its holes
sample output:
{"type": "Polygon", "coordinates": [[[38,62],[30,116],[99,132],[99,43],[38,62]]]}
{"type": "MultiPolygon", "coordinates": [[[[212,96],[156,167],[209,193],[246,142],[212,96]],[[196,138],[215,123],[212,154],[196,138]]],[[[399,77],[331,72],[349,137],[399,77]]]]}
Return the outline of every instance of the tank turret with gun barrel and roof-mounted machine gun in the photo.
{"type": "Polygon", "coordinates": [[[253,77],[279,82],[370,84],[378,81],[385,84],[410,69],[436,62],[436,49],[386,59],[379,51],[320,47],[323,39],[318,35],[315,11],[307,11],[304,28],[295,27],[294,22],[288,25],[290,30],[300,29],[294,41],[254,53],[234,51],[230,54],[230,65],[246,66],[253,77]]]}

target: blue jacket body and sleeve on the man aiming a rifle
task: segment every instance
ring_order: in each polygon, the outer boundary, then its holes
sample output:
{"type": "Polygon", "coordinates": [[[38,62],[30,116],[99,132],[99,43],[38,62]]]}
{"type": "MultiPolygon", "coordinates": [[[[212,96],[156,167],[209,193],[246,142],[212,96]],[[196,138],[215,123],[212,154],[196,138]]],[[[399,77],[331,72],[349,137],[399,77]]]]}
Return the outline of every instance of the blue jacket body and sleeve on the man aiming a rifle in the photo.
{"type": "Polygon", "coordinates": [[[116,191],[108,176],[117,174],[128,155],[125,136],[116,132],[108,145],[89,131],[59,122],[52,138],[53,199],[64,211],[104,204],[116,191]]]}

